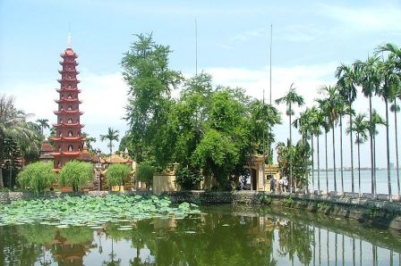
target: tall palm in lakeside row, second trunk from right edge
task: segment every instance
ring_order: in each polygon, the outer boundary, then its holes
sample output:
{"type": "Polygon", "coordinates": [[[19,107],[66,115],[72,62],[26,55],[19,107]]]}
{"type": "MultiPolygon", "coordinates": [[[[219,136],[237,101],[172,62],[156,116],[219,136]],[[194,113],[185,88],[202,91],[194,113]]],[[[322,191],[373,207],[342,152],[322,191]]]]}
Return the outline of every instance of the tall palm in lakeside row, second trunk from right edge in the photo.
{"type": "Polygon", "coordinates": [[[400,77],[396,73],[396,61],[388,55],[388,60],[380,61],[378,64],[378,75],[380,77],[380,89],[378,94],[383,98],[386,105],[386,146],[387,146],[387,177],[388,177],[388,196],[393,200],[391,191],[391,173],[390,173],[390,153],[388,138],[388,99],[391,100],[395,95],[395,88],[400,84],[400,77]]]}

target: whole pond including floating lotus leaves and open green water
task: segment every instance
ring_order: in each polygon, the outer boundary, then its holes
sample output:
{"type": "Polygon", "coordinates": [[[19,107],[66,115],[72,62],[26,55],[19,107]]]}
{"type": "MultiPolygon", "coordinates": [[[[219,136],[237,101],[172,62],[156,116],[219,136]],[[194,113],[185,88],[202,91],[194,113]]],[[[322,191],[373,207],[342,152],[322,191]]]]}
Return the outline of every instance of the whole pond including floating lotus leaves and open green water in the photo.
{"type": "Polygon", "coordinates": [[[401,232],[299,210],[108,195],[0,205],[0,265],[400,265],[401,232]]]}

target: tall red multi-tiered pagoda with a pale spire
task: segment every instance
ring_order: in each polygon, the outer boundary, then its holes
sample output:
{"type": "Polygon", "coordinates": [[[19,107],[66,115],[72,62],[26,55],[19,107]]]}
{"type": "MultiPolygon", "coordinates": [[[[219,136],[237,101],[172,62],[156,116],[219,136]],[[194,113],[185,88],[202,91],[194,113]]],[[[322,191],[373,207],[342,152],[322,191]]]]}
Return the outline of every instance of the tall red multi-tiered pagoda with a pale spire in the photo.
{"type": "Polygon", "coordinates": [[[76,58],[78,54],[73,52],[71,47],[71,34],[68,35],[67,48],[63,54],[60,54],[63,61],[60,62],[62,70],[58,71],[61,74],[61,79],[57,81],[60,83],[60,88],[56,89],[59,94],[57,103],[58,110],[55,111],[57,122],[53,125],[55,127],[55,151],[52,155],[55,157],[54,168],[61,170],[65,162],[77,159],[81,154],[81,149],[84,137],[81,137],[81,114],[79,94],[81,90],[78,89],[77,75],[80,73],[76,70],[78,62],[76,58]]]}

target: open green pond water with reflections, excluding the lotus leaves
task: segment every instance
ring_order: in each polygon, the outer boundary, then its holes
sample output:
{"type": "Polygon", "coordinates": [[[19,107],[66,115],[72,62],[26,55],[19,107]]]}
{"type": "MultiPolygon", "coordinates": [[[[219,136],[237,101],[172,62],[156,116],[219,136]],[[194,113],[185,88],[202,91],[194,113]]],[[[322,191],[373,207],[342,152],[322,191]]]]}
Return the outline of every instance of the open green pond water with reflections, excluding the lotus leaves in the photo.
{"type": "Polygon", "coordinates": [[[310,212],[214,206],[185,219],[0,227],[5,265],[400,265],[397,230],[310,212]]]}

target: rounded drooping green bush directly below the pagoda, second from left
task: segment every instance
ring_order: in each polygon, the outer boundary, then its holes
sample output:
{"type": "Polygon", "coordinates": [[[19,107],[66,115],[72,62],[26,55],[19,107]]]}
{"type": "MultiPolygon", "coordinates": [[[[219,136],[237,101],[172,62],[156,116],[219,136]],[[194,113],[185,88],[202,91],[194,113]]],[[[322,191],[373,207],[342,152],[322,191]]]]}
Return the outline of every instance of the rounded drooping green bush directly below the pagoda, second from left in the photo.
{"type": "Polygon", "coordinates": [[[88,162],[67,162],[59,173],[60,185],[71,186],[74,192],[92,179],[93,167],[88,162]]]}

